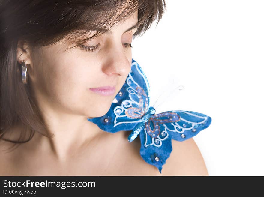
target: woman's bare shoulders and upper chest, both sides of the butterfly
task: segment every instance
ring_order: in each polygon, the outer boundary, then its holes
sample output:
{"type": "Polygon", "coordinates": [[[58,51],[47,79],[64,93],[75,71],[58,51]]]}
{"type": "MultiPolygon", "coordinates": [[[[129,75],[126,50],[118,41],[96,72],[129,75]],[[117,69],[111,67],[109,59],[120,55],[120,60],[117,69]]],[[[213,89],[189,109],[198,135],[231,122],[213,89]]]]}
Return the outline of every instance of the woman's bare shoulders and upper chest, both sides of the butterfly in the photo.
{"type": "Polygon", "coordinates": [[[36,133],[33,139],[14,151],[4,150],[10,142],[0,144],[0,175],[18,176],[208,176],[203,157],[192,138],[173,143],[173,151],[162,169],[146,163],[140,156],[140,139],[129,143],[129,132],[107,133],[101,130],[93,140],[75,145],[67,157],[58,158],[52,147],[36,133]]]}

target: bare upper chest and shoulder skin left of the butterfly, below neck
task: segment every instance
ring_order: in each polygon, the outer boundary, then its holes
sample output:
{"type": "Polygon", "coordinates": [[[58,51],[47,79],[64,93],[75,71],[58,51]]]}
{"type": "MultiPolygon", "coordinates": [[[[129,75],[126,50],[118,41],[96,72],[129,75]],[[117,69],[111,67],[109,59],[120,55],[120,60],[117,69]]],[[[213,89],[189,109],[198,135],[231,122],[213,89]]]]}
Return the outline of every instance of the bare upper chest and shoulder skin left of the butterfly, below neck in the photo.
{"type": "Polygon", "coordinates": [[[0,175],[160,175],[139,154],[140,140],[129,143],[128,132],[101,131],[93,140],[75,145],[67,157],[58,158],[41,134],[7,152],[10,142],[1,142],[0,175]]]}

